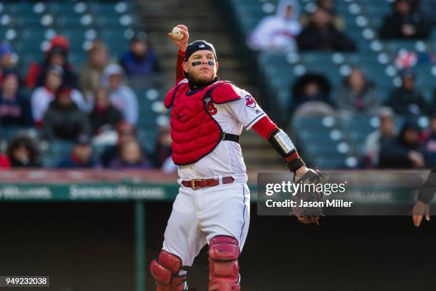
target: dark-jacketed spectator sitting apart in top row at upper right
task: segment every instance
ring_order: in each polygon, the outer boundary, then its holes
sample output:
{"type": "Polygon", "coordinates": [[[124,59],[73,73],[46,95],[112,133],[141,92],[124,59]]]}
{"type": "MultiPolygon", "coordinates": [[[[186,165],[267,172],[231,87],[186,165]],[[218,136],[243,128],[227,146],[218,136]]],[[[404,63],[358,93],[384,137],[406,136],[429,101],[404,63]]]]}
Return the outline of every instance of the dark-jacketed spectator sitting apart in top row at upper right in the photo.
{"type": "Polygon", "coordinates": [[[430,24],[412,11],[409,0],[396,0],[392,14],[385,16],[380,28],[381,39],[427,39],[430,24]]]}

